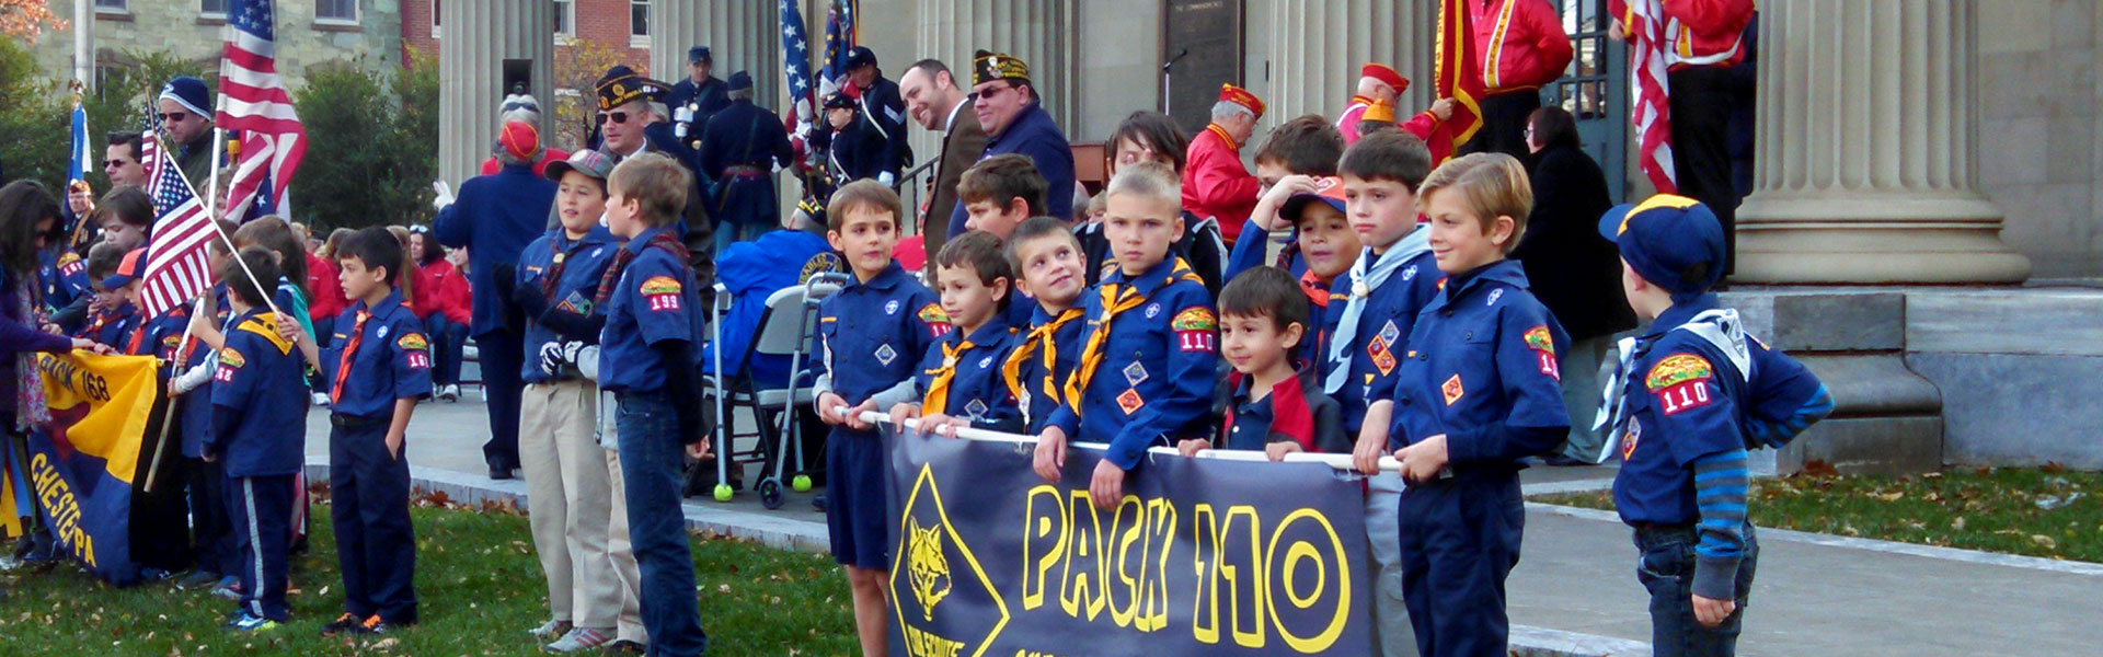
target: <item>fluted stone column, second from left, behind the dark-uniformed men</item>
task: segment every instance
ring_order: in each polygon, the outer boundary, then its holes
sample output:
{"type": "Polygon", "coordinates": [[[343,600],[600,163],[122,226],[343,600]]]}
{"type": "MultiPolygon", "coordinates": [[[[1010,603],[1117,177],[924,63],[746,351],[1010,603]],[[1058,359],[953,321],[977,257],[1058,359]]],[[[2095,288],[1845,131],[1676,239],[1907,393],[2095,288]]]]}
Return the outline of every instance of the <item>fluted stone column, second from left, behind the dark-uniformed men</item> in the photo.
{"type": "MultiPolygon", "coordinates": [[[[751,0],[658,0],[656,32],[650,38],[650,76],[677,84],[686,80],[686,51],[709,46],[715,59],[711,72],[730,80],[734,72],[753,76],[753,99],[761,107],[780,110],[782,29],[780,6],[751,0]]],[[[822,29],[824,23],[818,23],[822,29]]],[[[822,32],[820,32],[822,34],[822,32]]]]}

